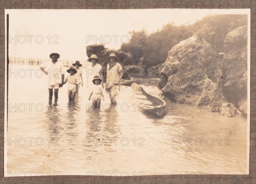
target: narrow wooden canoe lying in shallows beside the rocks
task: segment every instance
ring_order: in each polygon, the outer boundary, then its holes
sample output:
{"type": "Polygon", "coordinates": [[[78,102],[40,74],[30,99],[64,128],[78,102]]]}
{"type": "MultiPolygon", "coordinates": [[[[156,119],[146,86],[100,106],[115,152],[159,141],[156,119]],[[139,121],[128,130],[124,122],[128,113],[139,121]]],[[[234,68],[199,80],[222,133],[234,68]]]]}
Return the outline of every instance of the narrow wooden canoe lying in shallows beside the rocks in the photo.
{"type": "Polygon", "coordinates": [[[155,96],[149,95],[137,83],[132,83],[131,88],[133,89],[134,95],[138,97],[136,98],[136,101],[138,101],[138,104],[142,104],[140,105],[140,108],[142,109],[143,112],[146,112],[151,115],[156,115],[160,118],[163,117],[163,115],[165,115],[166,113],[165,101],[155,96]]]}

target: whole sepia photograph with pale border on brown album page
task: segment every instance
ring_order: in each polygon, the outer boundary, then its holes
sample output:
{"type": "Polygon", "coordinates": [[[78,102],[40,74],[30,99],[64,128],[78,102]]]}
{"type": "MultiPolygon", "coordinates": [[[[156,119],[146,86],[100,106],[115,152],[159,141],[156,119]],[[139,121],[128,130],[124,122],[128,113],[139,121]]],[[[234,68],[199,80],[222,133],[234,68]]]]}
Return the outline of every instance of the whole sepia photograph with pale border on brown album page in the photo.
{"type": "Polygon", "coordinates": [[[5,9],[3,176],[249,174],[250,13],[5,9]]]}

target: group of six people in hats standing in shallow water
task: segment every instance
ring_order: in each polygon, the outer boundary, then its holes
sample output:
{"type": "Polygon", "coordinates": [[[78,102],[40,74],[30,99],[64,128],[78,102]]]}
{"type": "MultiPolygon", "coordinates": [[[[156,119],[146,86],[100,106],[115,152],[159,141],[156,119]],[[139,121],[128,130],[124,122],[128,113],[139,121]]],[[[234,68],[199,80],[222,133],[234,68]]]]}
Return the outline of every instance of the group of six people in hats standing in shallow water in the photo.
{"type": "MultiPolygon", "coordinates": [[[[70,75],[64,77],[65,69],[63,63],[58,61],[60,55],[58,53],[50,54],[49,60],[39,67],[46,74],[49,75],[48,91],[49,91],[49,106],[58,106],[58,90],[67,83],[67,93],[69,101],[74,101],[76,94],[79,92],[79,87],[84,86],[83,71],[80,68],[82,65],[79,61],[73,63],[67,72],[70,75]],[[54,91],[53,91],[54,89],[54,91]],[[54,103],[52,104],[52,96],[54,92],[54,103]]],[[[119,58],[115,54],[110,54],[106,58],[109,63],[107,65],[107,81],[105,86],[103,84],[103,70],[98,63],[99,58],[96,55],[91,55],[88,61],[91,63],[86,69],[87,86],[90,90],[89,101],[92,98],[94,107],[99,107],[101,97],[104,100],[103,89],[105,87],[106,93],[110,96],[111,104],[116,104],[116,96],[119,94],[119,83],[122,79],[122,66],[118,63],[119,58]],[[90,78],[89,76],[92,76],[90,78]]]]}

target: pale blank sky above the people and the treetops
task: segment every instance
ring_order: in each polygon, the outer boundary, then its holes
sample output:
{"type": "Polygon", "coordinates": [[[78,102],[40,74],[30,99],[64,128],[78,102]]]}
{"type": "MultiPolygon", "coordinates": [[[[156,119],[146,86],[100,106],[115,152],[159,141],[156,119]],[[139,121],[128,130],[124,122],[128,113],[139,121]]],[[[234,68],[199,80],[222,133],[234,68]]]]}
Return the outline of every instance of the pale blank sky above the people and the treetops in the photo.
{"type": "Polygon", "coordinates": [[[208,14],[244,14],[245,11],[8,9],[5,13],[9,14],[9,35],[13,39],[9,44],[10,57],[49,58],[50,53],[58,52],[61,55],[60,60],[84,61],[87,60],[87,45],[105,43],[106,48],[119,49],[122,42],[128,42],[128,32],[132,30],[145,28],[151,33],[170,22],[175,25],[191,24],[208,14]]]}

